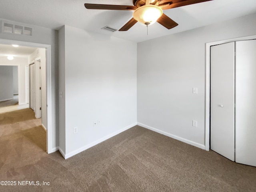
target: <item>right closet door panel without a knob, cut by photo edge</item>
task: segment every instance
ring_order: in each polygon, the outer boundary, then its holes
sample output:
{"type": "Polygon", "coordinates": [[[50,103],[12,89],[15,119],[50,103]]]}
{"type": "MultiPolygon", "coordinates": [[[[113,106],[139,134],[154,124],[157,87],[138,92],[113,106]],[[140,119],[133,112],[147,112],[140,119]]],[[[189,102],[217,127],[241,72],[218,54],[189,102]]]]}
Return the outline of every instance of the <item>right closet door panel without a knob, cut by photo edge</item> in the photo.
{"type": "Polygon", "coordinates": [[[236,162],[256,166],[256,40],[236,42],[236,162]]]}

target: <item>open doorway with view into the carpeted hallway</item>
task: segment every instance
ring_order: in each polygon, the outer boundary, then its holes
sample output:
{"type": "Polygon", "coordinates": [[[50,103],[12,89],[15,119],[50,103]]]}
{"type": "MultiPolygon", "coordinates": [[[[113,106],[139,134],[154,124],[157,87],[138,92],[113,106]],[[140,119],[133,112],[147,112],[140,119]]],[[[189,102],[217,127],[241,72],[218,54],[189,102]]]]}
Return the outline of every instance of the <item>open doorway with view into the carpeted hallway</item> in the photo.
{"type": "MultiPolygon", "coordinates": [[[[18,134],[27,128],[30,133],[41,132],[42,129],[44,134],[40,135],[44,138],[42,144],[46,151],[46,48],[0,45],[0,78],[1,137],[15,131],[15,134],[18,134]],[[8,58],[10,55],[12,59],[8,58]],[[34,70],[30,71],[31,65],[34,70]],[[27,118],[30,121],[27,121],[27,118]],[[32,119],[34,120],[31,121],[32,119]]],[[[42,141],[42,138],[39,140],[42,141]]]]}

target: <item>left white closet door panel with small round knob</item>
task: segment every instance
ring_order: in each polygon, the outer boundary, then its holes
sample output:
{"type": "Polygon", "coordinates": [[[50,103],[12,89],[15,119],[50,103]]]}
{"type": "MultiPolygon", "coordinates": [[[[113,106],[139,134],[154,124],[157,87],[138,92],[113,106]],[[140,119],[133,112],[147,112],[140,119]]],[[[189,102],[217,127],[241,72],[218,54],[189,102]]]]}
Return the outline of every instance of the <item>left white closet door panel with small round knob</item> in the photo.
{"type": "Polygon", "coordinates": [[[235,43],[211,47],[210,148],[234,161],[235,43]]]}

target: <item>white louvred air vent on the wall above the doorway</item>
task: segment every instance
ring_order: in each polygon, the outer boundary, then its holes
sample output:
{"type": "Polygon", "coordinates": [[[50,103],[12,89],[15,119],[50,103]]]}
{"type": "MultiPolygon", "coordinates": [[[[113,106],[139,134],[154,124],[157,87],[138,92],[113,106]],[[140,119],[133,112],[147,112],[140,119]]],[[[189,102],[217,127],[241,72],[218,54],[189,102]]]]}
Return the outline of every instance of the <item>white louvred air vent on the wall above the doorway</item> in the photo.
{"type": "Polygon", "coordinates": [[[31,27],[23,26],[22,24],[18,24],[8,20],[2,20],[1,32],[8,33],[8,34],[32,36],[31,27]]]}

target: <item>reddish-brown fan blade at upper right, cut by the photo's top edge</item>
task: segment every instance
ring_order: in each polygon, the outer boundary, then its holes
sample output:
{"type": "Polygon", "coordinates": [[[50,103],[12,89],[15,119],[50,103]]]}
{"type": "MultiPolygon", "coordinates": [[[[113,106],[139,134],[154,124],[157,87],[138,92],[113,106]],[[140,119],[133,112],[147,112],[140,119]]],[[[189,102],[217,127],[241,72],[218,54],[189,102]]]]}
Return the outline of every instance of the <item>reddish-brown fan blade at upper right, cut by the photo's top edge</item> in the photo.
{"type": "Polygon", "coordinates": [[[159,3],[159,6],[165,10],[165,9],[171,9],[196,3],[202,3],[206,1],[212,1],[212,0],[162,0],[159,3]]]}

